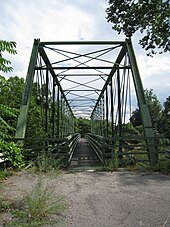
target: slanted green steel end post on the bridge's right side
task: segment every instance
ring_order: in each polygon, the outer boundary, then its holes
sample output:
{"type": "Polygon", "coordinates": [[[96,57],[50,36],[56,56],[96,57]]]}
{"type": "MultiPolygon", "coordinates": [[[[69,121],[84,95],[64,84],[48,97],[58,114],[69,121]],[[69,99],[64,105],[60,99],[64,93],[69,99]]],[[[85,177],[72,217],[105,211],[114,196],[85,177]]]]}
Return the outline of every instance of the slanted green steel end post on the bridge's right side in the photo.
{"type": "Polygon", "coordinates": [[[141,112],[144,133],[146,136],[146,143],[148,147],[148,157],[149,157],[150,163],[155,164],[158,160],[158,155],[157,155],[156,145],[154,141],[154,131],[152,127],[151,117],[150,117],[148,106],[146,104],[144,89],[140,78],[139,70],[137,67],[137,62],[136,62],[135,53],[132,47],[131,40],[127,39],[126,45],[127,45],[129,60],[132,67],[132,76],[135,84],[139,110],[141,112]]]}

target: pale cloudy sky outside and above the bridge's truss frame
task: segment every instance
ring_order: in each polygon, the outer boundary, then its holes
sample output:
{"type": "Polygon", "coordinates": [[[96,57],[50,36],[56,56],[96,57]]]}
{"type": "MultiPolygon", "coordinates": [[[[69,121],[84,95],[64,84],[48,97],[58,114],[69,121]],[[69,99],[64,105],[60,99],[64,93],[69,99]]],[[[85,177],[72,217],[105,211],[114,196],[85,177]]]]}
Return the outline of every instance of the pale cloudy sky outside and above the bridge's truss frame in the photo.
{"type": "MultiPolygon", "coordinates": [[[[26,77],[35,38],[41,41],[120,40],[106,20],[106,0],[0,0],[0,39],[15,41],[17,55],[8,76],[26,77]]],[[[153,58],[138,44],[140,34],[132,38],[137,63],[146,89],[153,89],[161,103],[170,95],[170,54],[153,58]]]]}

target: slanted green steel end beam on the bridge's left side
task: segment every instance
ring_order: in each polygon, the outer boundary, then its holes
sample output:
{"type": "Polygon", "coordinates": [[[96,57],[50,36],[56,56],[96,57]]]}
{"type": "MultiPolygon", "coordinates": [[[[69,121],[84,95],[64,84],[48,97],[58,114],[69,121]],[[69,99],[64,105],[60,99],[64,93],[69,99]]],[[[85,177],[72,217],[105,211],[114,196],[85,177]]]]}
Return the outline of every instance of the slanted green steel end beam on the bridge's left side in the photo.
{"type": "Polygon", "coordinates": [[[34,40],[31,58],[30,58],[28,71],[27,71],[27,76],[26,76],[26,81],[25,81],[25,87],[24,87],[23,96],[22,96],[20,115],[18,117],[15,138],[25,137],[28,107],[29,107],[30,98],[31,98],[31,91],[32,91],[32,85],[34,80],[34,72],[35,72],[35,66],[37,62],[39,43],[40,43],[39,39],[34,40]]]}

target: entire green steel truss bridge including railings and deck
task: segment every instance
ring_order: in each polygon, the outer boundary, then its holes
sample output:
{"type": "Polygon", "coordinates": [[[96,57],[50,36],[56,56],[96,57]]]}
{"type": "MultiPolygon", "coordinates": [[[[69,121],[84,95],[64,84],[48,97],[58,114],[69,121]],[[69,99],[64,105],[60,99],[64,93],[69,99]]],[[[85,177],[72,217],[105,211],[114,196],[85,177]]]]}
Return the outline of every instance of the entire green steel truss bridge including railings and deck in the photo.
{"type": "Polygon", "coordinates": [[[45,151],[65,166],[164,158],[131,41],[34,40],[15,139],[23,141],[28,159],[45,151]],[[130,124],[136,108],[141,134],[130,124]],[[91,120],[85,139],[74,131],[77,117],[91,120]],[[37,121],[33,137],[27,130],[31,118],[37,121]]]}

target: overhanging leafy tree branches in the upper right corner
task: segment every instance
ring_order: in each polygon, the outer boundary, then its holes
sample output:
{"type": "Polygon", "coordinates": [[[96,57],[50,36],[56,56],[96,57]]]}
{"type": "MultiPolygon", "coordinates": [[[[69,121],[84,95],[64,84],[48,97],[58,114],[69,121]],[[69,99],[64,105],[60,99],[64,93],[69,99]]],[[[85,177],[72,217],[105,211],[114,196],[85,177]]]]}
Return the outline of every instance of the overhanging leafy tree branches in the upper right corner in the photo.
{"type": "Polygon", "coordinates": [[[130,38],[135,32],[143,34],[139,44],[148,55],[170,50],[169,0],[109,0],[107,21],[113,29],[130,38]]]}

